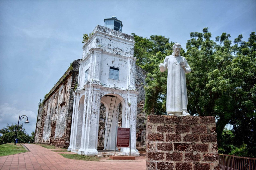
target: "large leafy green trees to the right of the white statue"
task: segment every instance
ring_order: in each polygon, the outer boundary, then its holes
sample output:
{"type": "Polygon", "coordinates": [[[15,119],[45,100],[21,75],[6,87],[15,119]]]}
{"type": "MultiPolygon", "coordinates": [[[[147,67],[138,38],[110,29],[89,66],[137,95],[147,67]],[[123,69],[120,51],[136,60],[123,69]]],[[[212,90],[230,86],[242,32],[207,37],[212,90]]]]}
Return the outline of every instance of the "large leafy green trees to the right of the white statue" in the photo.
{"type": "Polygon", "coordinates": [[[239,35],[234,46],[231,46],[229,34],[216,37],[216,41],[220,41],[217,44],[207,39],[205,33],[208,32],[203,30],[203,36],[200,34],[203,40],[197,38],[197,42],[192,37],[187,43],[188,62],[193,70],[187,75],[188,110],[217,118],[219,144],[223,142],[221,134],[225,125],[233,124],[235,147],[246,144],[250,148],[248,155],[252,155],[256,152],[255,33],[248,42],[241,42],[242,35],[239,35]],[[239,42],[241,47],[237,47],[239,42]]]}

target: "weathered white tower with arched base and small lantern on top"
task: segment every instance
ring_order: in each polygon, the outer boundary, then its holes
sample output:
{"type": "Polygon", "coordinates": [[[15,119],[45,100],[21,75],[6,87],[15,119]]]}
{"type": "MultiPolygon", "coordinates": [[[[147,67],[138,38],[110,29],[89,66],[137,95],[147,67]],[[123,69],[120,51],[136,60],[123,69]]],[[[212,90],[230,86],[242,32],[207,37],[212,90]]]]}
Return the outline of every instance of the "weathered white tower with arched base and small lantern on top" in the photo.
{"type": "MultiPolygon", "coordinates": [[[[96,26],[84,44],[78,85],[74,94],[69,151],[98,155],[100,104],[106,107],[104,150],[115,149],[118,105],[122,105],[121,127],[131,129],[131,154],[136,150],[137,94],[135,89],[134,39],[122,33],[122,21],[115,16],[96,26]],[[119,24],[118,24],[119,23],[119,24]]],[[[121,148],[122,155],[129,148],[121,148]]]]}

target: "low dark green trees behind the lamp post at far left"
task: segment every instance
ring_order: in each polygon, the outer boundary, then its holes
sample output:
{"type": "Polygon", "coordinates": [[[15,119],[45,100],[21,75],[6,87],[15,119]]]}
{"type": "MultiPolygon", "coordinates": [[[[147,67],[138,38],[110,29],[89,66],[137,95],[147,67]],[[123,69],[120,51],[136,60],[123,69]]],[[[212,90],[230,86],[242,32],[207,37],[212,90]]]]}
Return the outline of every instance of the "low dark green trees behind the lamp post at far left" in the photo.
{"type": "MultiPolygon", "coordinates": [[[[15,132],[16,132],[16,127],[17,125],[11,125],[7,124],[6,128],[0,129],[0,133],[2,133],[2,136],[0,136],[0,144],[7,144],[7,143],[12,143],[14,142],[15,139],[15,132]]],[[[32,136],[29,136],[25,129],[23,129],[23,125],[20,124],[18,127],[18,133],[17,133],[17,138],[19,139],[19,143],[30,143],[34,142],[34,137],[35,137],[35,132],[31,133],[32,136]],[[34,136],[33,136],[34,134],[34,136]]]]}

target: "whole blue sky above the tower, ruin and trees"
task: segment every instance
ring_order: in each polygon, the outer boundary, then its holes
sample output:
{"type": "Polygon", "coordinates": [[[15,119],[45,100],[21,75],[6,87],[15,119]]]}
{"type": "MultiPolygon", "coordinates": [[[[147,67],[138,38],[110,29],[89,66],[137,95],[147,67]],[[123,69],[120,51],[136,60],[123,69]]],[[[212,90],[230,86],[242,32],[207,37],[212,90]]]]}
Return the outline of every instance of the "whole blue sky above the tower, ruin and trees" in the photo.
{"type": "MultiPolygon", "coordinates": [[[[35,131],[38,103],[82,58],[82,38],[104,18],[123,22],[123,33],[164,35],[186,47],[190,32],[208,27],[212,40],[226,32],[233,41],[256,31],[255,0],[1,0],[0,128],[27,115],[35,131]]],[[[193,69],[193,68],[192,68],[193,69]]]]}

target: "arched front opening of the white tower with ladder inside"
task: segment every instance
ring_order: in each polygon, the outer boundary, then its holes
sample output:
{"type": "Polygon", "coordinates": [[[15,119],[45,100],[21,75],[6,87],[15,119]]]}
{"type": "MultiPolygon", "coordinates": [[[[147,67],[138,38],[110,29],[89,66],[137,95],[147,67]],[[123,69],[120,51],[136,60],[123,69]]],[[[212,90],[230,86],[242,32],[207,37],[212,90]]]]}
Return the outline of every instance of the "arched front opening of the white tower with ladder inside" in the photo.
{"type": "Polygon", "coordinates": [[[108,94],[101,98],[98,131],[98,150],[114,150],[116,138],[116,124],[122,127],[123,117],[122,97],[108,94]]]}

